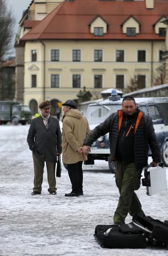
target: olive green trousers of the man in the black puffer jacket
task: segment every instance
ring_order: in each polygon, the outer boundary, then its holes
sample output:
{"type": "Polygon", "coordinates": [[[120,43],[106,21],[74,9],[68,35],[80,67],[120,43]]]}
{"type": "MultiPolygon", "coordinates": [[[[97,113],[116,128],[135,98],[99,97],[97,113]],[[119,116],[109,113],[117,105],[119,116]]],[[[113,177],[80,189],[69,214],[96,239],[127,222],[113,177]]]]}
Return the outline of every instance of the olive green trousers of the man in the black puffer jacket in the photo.
{"type": "MultiPolygon", "coordinates": [[[[135,163],[116,161],[116,185],[119,189],[119,203],[114,213],[114,223],[125,223],[125,218],[130,213],[142,213],[141,203],[134,192],[140,187],[142,168],[137,169],[135,163]]],[[[145,215],[145,214],[144,214],[145,215]]]]}

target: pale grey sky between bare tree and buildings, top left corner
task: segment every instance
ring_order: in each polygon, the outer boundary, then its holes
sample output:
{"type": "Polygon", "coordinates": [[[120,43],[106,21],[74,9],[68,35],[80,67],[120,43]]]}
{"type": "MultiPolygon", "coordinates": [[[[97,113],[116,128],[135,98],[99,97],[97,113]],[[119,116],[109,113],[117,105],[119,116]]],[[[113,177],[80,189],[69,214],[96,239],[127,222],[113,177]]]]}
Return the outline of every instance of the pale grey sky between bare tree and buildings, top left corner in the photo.
{"type": "MultiPolygon", "coordinates": [[[[12,45],[14,45],[15,36],[17,34],[18,28],[19,28],[19,21],[22,17],[23,11],[26,10],[29,6],[29,4],[32,2],[32,0],[6,0],[8,3],[9,8],[11,7],[13,10],[14,17],[16,19],[16,25],[15,25],[15,31],[14,31],[14,38],[12,45]]],[[[15,49],[13,48],[10,55],[15,55],[15,49]]]]}

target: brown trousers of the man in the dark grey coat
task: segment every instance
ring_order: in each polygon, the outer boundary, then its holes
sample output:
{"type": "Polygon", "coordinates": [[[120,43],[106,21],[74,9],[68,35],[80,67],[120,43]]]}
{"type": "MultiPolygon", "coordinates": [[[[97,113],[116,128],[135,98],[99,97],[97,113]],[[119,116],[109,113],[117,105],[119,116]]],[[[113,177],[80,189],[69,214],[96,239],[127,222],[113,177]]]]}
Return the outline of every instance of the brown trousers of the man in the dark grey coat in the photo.
{"type": "MultiPolygon", "coordinates": [[[[43,172],[44,172],[44,162],[39,160],[35,154],[32,152],[33,155],[33,163],[34,163],[34,188],[33,191],[41,192],[41,185],[43,183],[43,172]]],[[[49,183],[48,191],[56,191],[56,179],[55,179],[55,163],[46,162],[46,169],[47,169],[47,179],[49,183]]]]}

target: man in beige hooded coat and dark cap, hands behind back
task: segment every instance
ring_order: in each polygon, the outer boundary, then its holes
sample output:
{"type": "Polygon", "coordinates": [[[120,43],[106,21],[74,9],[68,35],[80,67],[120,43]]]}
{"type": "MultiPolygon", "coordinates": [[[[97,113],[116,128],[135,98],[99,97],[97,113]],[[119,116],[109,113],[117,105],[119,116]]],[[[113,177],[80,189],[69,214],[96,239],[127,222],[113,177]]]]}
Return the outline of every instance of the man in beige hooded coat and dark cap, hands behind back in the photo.
{"type": "Polygon", "coordinates": [[[63,161],[67,164],[68,174],[72,184],[72,192],[65,196],[83,195],[82,163],[87,160],[82,146],[84,138],[90,133],[86,117],[76,109],[74,100],[67,100],[63,104],[62,153],[63,161]]]}

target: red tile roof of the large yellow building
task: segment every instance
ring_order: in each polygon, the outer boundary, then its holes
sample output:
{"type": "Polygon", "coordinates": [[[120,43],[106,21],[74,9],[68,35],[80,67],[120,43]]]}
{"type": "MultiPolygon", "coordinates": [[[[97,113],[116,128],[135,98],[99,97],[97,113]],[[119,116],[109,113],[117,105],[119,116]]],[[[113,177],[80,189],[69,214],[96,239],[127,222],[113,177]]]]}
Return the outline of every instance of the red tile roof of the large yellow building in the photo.
{"type": "Polygon", "coordinates": [[[152,26],[162,15],[168,17],[168,2],[154,2],[154,9],[146,9],[145,1],[64,1],[41,20],[21,41],[41,39],[147,39],[163,40],[152,26]],[[109,24],[107,34],[94,36],[90,22],[97,16],[109,24]],[[139,21],[140,33],[136,37],[123,34],[121,24],[130,16],[139,21]]]}

